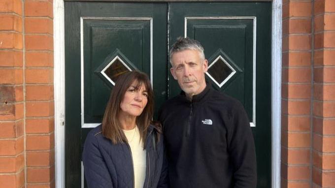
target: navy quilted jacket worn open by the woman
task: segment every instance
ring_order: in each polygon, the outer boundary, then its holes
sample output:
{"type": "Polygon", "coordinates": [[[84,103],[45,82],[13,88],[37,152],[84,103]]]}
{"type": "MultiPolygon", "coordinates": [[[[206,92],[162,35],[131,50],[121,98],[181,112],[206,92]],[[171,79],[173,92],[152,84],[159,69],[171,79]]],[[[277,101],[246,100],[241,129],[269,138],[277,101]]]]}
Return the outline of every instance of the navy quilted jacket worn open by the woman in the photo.
{"type": "MultiPolygon", "coordinates": [[[[144,188],[167,188],[167,160],[163,136],[153,144],[152,125],[148,129],[144,188]]],[[[84,174],[89,188],[134,188],[134,170],[130,147],[114,145],[101,134],[101,125],[92,129],[83,151],[84,174]]]]}

